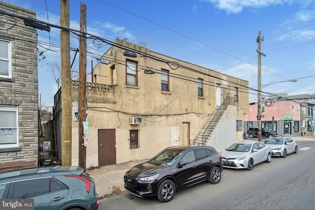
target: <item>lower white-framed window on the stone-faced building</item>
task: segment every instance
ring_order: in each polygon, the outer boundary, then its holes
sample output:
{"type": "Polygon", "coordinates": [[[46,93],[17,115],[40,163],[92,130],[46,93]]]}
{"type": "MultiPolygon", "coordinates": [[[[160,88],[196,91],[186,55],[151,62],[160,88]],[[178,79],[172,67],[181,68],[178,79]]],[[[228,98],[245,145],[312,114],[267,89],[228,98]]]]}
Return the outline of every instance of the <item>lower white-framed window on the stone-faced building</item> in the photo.
{"type": "Polygon", "coordinates": [[[19,146],[18,109],[0,106],[0,148],[19,146]]]}

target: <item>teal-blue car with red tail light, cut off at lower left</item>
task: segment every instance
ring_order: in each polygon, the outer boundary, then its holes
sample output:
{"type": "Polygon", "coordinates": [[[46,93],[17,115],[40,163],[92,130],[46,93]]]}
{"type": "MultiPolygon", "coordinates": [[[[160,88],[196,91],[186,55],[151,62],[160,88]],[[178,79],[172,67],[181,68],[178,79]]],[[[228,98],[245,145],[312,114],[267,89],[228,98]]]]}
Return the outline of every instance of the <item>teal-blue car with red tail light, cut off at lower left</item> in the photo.
{"type": "Polygon", "coordinates": [[[76,166],[46,166],[0,173],[0,199],[33,199],[35,210],[98,210],[92,177],[76,166]]]}

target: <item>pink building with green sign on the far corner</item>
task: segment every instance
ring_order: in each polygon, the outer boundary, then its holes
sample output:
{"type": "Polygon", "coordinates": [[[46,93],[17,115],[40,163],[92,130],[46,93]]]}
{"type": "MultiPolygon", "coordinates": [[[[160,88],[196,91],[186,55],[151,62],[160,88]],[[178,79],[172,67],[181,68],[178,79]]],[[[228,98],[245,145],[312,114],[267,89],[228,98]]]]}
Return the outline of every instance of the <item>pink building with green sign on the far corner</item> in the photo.
{"type": "MultiPolygon", "coordinates": [[[[261,127],[274,130],[280,136],[299,136],[301,134],[301,107],[293,101],[262,103],[261,127]]],[[[249,113],[244,114],[244,131],[258,127],[257,104],[249,105],[249,113]]]]}

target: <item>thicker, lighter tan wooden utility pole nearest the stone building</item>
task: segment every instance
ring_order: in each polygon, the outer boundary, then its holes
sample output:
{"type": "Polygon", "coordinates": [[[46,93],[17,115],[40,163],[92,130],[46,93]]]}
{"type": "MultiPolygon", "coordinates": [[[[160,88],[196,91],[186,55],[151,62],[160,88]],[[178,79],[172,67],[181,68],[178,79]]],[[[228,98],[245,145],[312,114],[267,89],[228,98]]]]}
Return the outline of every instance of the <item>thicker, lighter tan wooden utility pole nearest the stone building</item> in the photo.
{"type": "MultiPolygon", "coordinates": [[[[60,1],[60,26],[69,28],[69,0],[60,1]]],[[[60,30],[61,49],[61,94],[62,94],[62,165],[71,164],[71,73],[70,34],[60,30]]]]}

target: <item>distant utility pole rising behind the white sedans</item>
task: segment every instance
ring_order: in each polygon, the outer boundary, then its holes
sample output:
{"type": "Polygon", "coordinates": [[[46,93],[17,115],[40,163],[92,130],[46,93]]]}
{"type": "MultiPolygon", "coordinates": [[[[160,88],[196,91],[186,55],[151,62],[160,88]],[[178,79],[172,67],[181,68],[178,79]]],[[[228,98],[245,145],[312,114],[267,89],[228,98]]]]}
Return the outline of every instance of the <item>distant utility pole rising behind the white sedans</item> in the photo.
{"type": "Polygon", "coordinates": [[[261,142],[261,56],[266,56],[265,54],[261,53],[261,41],[264,40],[264,37],[260,38],[261,33],[258,32],[257,36],[257,43],[258,43],[258,49],[256,52],[258,53],[258,102],[257,102],[257,120],[258,120],[258,141],[261,142]]]}

